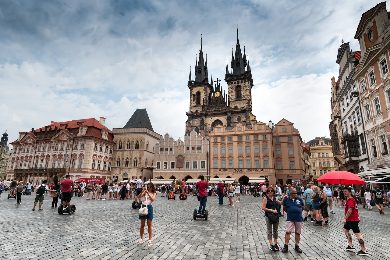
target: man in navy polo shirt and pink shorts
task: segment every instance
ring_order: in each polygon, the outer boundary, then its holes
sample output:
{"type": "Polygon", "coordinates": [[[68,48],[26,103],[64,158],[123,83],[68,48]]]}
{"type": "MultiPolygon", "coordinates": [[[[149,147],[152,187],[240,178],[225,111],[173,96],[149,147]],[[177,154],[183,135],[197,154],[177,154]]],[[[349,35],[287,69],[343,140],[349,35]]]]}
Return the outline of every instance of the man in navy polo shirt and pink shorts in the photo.
{"type": "Polygon", "coordinates": [[[290,235],[295,232],[295,251],[302,253],[302,250],[299,248],[299,240],[301,239],[301,229],[302,229],[302,212],[305,209],[305,203],[303,200],[298,197],[298,193],[295,188],[289,189],[289,198],[284,199],[283,201],[283,210],[287,212],[287,222],[286,222],[286,235],[284,237],[285,244],[282,252],[289,251],[288,244],[290,241],[290,235]]]}

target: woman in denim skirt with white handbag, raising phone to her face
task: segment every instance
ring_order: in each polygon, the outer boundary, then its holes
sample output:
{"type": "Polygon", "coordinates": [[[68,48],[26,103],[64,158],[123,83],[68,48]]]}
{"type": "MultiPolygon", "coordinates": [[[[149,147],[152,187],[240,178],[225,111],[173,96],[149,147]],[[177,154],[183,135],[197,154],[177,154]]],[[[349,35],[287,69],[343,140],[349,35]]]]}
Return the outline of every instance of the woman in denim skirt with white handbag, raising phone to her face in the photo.
{"type": "Polygon", "coordinates": [[[146,188],[142,189],[142,192],[139,194],[139,197],[142,198],[144,196],[144,201],[142,203],[142,208],[147,207],[147,215],[138,216],[138,219],[141,219],[141,227],[140,227],[140,236],[141,239],[138,241],[138,245],[142,244],[144,239],[144,230],[145,230],[145,222],[147,220],[147,231],[149,233],[149,240],[147,245],[152,245],[152,219],[153,219],[153,201],[156,198],[156,188],[154,184],[149,182],[146,188]]]}

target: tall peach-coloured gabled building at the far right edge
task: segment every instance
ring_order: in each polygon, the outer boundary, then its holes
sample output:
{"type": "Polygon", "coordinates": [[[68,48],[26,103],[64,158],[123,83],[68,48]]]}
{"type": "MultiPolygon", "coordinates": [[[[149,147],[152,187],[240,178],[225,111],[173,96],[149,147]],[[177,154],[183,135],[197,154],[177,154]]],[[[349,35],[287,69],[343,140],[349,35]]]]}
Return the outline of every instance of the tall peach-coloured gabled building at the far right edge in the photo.
{"type": "MultiPolygon", "coordinates": [[[[356,30],[362,58],[356,81],[363,110],[369,160],[367,167],[390,166],[390,18],[386,2],[364,12],[356,30]]],[[[367,170],[367,169],[366,169],[367,170]]]]}

